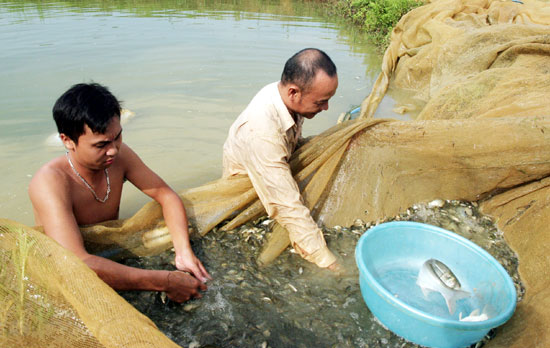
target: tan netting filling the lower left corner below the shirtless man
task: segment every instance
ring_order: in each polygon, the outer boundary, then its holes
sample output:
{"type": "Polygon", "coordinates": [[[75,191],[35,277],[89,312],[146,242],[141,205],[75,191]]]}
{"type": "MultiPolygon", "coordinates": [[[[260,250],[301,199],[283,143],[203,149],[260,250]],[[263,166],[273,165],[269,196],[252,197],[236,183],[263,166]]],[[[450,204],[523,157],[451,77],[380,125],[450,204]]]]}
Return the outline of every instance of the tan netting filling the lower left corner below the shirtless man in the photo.
{"type": "Polygon", "coordinates": [[[0,219],[0,347],[178,347],[44,234],[0,219]]]}

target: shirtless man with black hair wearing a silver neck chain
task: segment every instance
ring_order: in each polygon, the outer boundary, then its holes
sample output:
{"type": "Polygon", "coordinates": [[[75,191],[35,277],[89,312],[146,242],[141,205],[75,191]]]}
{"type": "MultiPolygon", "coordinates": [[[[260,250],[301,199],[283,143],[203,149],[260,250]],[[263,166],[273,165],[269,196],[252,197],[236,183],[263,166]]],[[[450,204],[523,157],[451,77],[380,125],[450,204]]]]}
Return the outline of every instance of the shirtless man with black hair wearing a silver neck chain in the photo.
{"type": "Polygon", "coordinates": [[[183,203],[122,142],[118,100],[99,84],[74,85],[55,103],[53,117],[67,153],[42,166],[31,180],[36,224],[116,290],[164,291],[176,302],[200,298],[210,275],[191,250],[183,203]],[[128,267],[85,250],[78,225],[117,219],[125,180],[162,206],[176,267],[194,277],[128,267]]]}

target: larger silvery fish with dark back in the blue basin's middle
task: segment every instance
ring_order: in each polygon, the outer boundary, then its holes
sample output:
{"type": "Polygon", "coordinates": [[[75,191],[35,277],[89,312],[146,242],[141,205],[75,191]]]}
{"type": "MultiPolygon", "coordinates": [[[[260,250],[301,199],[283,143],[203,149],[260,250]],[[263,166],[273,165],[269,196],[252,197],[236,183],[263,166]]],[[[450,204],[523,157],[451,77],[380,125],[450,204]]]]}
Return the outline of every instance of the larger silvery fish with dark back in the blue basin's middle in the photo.
{"type": "Polygon", "coordinates": [[[456,301],[470,297],[468,291],[461,289],[460,282],[449,267],[436,259],[424,262],[418,273],[416,284],[420,286],[424,296],[428,296],[431,291],[439,292],[447,303],[449,314],[455,312],[456,301]]]}

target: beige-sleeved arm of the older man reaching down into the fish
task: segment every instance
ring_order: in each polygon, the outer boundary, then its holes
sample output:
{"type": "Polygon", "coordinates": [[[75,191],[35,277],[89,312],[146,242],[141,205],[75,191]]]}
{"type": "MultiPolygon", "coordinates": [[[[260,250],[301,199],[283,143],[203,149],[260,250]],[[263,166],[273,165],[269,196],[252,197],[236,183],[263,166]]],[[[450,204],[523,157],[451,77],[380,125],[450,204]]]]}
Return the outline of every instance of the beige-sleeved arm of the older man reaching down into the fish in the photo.
{"type": "Polygon", "coordinates": [[[280,139],[256,134],[247,143],[241,162],[268,215],[288,232],[295,249],[319,267],[335,267],[336,257],[326,246],[323,234],[309,209],[285,158],[280,139]]]}

